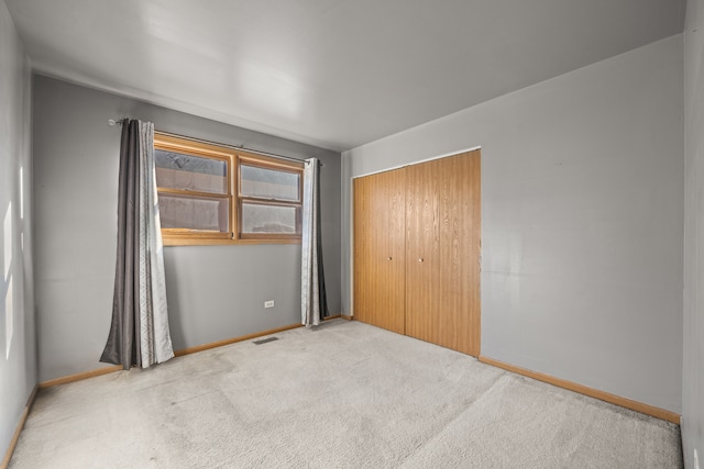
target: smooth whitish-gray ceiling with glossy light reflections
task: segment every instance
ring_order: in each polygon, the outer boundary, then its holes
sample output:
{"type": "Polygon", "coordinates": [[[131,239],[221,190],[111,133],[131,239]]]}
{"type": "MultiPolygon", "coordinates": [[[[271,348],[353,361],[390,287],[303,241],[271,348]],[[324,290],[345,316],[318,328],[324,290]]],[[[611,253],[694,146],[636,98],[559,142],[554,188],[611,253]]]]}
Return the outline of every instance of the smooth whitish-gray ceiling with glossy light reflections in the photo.
{"type": "Polygon", "coordinates": [[[338,150],[680,33],[685,9],[685,0],[6,2],[41,74],[338,150]]]}

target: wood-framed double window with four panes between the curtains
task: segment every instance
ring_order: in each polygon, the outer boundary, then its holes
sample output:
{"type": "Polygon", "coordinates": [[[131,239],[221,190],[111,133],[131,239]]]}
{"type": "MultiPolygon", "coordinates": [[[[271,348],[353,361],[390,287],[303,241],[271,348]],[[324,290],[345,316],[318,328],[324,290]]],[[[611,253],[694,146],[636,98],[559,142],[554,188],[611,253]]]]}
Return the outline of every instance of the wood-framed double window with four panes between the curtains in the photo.
{"type": "Polygon", "coordinates": [[[302,163],[155,133],[165,245],[298,243],[302,163]]]}

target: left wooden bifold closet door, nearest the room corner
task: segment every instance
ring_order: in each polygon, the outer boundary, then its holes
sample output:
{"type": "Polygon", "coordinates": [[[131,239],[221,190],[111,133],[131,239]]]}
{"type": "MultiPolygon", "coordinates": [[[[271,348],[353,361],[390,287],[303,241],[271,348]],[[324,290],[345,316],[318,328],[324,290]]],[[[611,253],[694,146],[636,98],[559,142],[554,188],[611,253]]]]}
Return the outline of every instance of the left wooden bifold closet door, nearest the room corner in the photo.
{"type": "Polygon", "coordinates": [[[405,333],[404,168],[353,182],[354,317],[405,333]]]}

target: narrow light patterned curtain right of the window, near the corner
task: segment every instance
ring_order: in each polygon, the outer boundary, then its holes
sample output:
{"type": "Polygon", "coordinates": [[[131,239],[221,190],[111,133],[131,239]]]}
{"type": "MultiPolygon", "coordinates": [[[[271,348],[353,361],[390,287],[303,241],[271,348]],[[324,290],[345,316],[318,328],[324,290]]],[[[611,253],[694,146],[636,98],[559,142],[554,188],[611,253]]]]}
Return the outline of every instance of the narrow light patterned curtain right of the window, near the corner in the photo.
{"type": "Polygon", "coordinates": [[[304,167],[304,216],[301,243],[301,308],[300,322],[318,325],[328,316],[326,280],[322,270],[320,243],[320,161],[309,158],[304,167]]]}

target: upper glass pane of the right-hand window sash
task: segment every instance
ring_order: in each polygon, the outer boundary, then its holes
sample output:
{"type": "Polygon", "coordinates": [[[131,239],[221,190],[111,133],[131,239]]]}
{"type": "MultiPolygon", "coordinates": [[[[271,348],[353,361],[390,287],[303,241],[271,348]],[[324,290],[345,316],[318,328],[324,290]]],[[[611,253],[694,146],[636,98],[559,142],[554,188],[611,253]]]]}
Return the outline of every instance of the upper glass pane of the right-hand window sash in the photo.
{"type": "Polygon", "coordinates": [[[240,192],[245,197],[298,200],[300,175],[256,166],[240,166],[240,192]]]}

